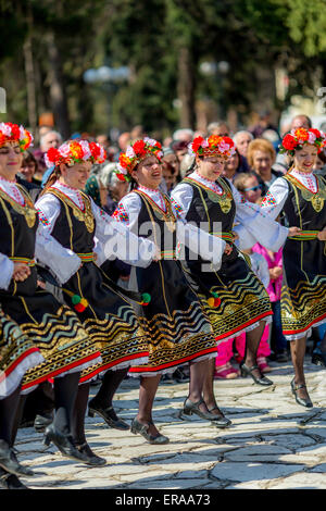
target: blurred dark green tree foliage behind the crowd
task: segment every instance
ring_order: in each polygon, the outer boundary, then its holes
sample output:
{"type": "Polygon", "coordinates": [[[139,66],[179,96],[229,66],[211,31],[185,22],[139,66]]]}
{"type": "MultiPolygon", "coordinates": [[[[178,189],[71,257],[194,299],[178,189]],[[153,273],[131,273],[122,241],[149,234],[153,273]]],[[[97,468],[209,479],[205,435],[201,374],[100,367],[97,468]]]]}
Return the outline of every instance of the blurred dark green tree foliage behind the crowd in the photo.
{"type": "Polygon", "coordinates": [[[28,37],[37,114],[53,107],[51,40],[72,132],[142,124],[159,135],[193,122],[196,101],[206,98],[223,107],[221,114],[230,107],[246,113],[260,70],[276,64],[289,72],[289,95],[312,90],[316,68],[326,77],[325,0],[1,0],[0,10],[0,86],[8,94],[1,120],[28,124],[28,37]],[[205,61],[226,61],[229,71],[204,76],[205,61]],[[130,78],[86,84],[85,71],[101,65],[127,65],[130,78]]]}

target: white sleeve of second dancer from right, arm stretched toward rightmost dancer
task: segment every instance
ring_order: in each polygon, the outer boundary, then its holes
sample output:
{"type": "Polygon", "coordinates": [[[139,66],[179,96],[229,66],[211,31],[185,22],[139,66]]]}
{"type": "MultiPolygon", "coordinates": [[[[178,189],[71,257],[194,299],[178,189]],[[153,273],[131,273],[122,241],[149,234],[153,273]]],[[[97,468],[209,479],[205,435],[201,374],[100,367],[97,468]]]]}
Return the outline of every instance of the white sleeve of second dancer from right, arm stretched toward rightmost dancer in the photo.
{"type": "MultiPolygon", "coordinates": [[[[249,236],[242,234],[242,246],[240,248],[251,248],[252,241],[259,242],[273,252],[277,252],[285,244],[289,229],[284,227],[278,222],[275,222],[275,216],[264,212],[264,210],[255,203],[246,200],[242,195],[229,182],[233,196],[236,202],[236,217],[235,222],[242,227],[238,228],[238,235],[241,236],[241,228],[246,228],[249,236]]],[[[237,232],[237,229],[235,229],[237,232]]]]}

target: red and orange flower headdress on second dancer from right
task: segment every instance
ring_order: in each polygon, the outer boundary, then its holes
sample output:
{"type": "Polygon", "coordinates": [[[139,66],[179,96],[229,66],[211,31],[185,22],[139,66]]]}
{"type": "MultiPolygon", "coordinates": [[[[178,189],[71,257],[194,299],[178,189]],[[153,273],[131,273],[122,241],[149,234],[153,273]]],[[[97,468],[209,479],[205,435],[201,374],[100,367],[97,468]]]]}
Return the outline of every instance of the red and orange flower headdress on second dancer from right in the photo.
{"type": "Polygon", "coordinates": [[[218,137],[211,135],[209,138],[196,137],[188,146],[188,152],[198,157],[233,157],[236,152],[236,146],[229,137],[218,137]]]}

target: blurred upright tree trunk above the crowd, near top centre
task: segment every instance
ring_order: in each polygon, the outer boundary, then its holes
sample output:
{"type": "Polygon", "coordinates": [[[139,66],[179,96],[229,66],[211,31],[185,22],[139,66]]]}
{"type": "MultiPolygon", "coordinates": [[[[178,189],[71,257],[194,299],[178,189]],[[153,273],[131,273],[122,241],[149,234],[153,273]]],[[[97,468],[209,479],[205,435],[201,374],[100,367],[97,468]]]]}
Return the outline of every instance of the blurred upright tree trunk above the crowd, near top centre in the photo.
{"type": "Polygon", "coordinates": [[[195,129],[196,109],[195,109],[195,65],[189,48],[183,47],[178,54],[178,99],[180,105],[180,127],[195,129]]]}

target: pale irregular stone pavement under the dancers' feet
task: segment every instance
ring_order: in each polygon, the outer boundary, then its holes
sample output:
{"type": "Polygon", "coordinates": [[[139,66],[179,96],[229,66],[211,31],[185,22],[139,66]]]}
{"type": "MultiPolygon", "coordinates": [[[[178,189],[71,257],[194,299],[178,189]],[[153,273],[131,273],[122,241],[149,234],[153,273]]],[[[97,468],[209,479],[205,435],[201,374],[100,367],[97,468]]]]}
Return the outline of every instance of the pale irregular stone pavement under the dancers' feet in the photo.
{"type": "MultiPolygon", "coordinates": [[[[53,446],[43,451],[42,435],[22,428],[18,459],[37,473],[23,481],[34,489],[325,489],[325,370],[306,359],[314,408],[304,409],[290,391],[291,364],[271,365],[274,385],[267,388],[251,378],[215,382],[218,404],[233,421],[227,429],[199,417],[179,419],[186,383],[159,387],[154,421],[168,445],[152,446],[140,435],[87,417],[88,441],[108,461],[100,469],[63,458],[53,446]]],[[[138,385],[138,379],[126,379],[115,396],[115,409],[127,421],[137,413],[138,385]]]]}

